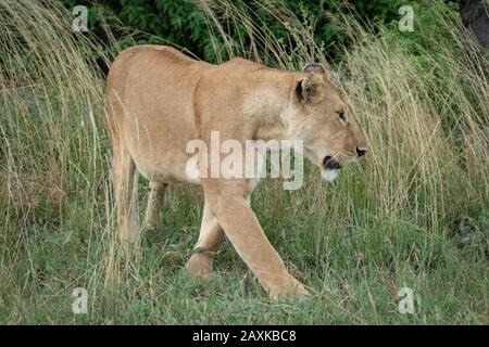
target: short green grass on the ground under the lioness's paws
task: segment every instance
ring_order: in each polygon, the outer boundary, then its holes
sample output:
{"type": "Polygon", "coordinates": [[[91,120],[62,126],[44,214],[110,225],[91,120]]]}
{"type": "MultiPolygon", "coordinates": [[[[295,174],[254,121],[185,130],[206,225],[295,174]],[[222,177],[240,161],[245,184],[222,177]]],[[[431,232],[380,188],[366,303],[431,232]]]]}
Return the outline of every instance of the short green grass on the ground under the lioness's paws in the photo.
{"type": "MultiPolygon", "coordinates": [[[[181,190],[172,191],[171,201],[174,193],[180,198],[164,213],[164,226],[145,235],[137,254],[110,249],[110,231],[87,230],[79,218],[83,209],[72,210],[63,227],[30,226],[29,236],[18,241],[22,250],[12,247],[2,256],[2,321],[487,323],[487,258],[481,245],[487,235],[480,230],[471,230],[473,239],[461,247],[457,240],[365,216],[341,228],[304,228],[310,222],[305,216],[280,213],[280,220],[274,221],[259,214],[292,273],[316,291],[305,301],[272,303],[229,244],[218,255],[212,282],[202,283],[184,271],[197,241],[200,209],[181,190]],[[72,312],[71,293],[77,286],[89,292],[88,314],[72,312]],[[398,312],[397,295],[403,286],[421,298],[414,316],[398,312]]],[[[266,200],[263,195],[258,193],[254,206],[259,198],[266,200]]],[[[481,222],[487,228],[488,221],[481,222]]]]}

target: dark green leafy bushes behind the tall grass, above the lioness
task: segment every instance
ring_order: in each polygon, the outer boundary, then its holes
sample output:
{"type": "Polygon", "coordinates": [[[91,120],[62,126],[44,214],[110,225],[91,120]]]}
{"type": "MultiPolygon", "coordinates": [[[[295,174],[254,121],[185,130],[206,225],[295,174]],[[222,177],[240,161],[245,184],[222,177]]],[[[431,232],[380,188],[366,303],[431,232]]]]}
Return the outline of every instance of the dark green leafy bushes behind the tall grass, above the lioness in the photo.
{"type": "MultiPolygon", "coordinates": [[[[209,30],[208,21],[201,9],[189,0],[98,0],[78,1],[62,0],[67,9],[75,5],[86,4],[89,9],[89,27],[100,25],[102,13],[114,14],[124,27],[136,28],[153,37],[146,35],[136,38],[138,43],[158,42],[162,39],[173,44],[191,51],[193,54],[208,62],[216,62],[216,49],[214,47],[215,36],[209,30]]],[[[211,1],[212,2],[212,1],[211,1]]],[[[240,7],[242,1],[230,1],[240,7]]],[[[313,26],[314,39],[324,47],[324,53],[331,60],[341,59],[341,47],[348,43],[348,36],[339,25],[329,21],[327,13],[336,14],[342,7],[337,0],[278,0],[275,1],[284,5],[304,23],[313,26]]],[[[360,17],[383,24],[389,24],[399,20],[398,9],[405,4],[403,0],[350,0],[348,1],[360,15],[360,17]]],[[[410,4],[417,7],[422,1],[410,1],[410,4]]],[[[456,4],[452,2],[453,10],[456,4]]],[[[272,34],[281,40],[289,39],[289,31],[274,17],[272,13],[260,7],[256,2],[249,2],[246,12],[252,20],[260,18],[259,23],[271,28],[272,34]]],[[[242,8],[242,7],[241,7],[242,8]]],[[[231,21],[231,18],[229,18],[231,21]]],[[[230,23],[229,34],[233,39],[249,40],[243,35],[247,31],[246,23],[230,23]]],[[[249,42],[244,42],[247,44],[249,42]]],[[[226,55],[225,43],[222,38],[217,38],[217,51],[226,55]]]]}

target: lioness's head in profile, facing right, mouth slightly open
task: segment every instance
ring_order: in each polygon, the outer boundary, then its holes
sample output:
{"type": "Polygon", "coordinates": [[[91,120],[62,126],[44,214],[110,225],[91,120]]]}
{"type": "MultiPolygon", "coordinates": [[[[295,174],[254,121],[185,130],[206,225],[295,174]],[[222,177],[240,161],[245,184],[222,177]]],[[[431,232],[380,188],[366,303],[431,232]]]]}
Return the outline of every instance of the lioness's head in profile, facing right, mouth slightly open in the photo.
{"type": "Polygon", "coordinates": [[[323,65],[303,68],[289,111],[290,137],[303,140],[304,154],[327,181],[338,176],[343,164],[366,153],[352,110],[323,65]]]}

